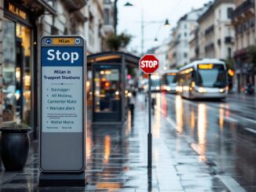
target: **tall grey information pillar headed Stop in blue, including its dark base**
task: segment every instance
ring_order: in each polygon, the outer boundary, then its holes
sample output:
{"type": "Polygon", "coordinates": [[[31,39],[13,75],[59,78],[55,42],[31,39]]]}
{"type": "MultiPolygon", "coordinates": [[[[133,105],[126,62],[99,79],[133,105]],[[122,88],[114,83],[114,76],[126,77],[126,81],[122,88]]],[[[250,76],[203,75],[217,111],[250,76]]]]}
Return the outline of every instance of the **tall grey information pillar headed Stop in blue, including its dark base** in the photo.
{"type": "Polygon", "coordinates": [[[84,186],[86,42],[41,39],[40,186],[84,186]]]}

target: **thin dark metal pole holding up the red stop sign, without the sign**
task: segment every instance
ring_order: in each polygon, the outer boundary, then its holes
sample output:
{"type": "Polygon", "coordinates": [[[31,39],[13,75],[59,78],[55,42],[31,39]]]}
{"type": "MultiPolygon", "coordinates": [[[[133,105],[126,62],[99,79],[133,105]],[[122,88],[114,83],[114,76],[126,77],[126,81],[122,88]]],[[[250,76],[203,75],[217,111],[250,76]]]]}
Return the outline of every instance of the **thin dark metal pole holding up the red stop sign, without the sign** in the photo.
{"type": "Polygon", "coordinates": [[[152,168],[151,74],[148,74],[148,168],[152,168]]]}

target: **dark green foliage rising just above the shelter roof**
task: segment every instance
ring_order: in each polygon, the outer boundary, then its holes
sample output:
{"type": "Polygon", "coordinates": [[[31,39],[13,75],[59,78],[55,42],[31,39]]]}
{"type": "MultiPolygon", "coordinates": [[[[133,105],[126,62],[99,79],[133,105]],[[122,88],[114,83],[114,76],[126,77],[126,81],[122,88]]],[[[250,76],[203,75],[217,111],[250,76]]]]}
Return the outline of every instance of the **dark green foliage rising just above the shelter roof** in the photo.
{"type": "Polygon", "coordinates": [[[130,34],[110,34],[107,38],[108,49],[112,51],[119,51],[125,48],[131,40],[132,36],[130,34]]]}

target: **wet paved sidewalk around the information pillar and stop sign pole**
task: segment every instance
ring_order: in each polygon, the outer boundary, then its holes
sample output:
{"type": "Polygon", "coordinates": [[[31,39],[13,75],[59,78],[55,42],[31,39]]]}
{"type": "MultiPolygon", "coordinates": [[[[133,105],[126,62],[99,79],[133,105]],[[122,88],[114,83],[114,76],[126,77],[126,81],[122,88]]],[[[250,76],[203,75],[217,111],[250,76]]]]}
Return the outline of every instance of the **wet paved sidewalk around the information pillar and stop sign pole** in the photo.
{"type": "Polygon", "coordinates": [[[35,141],[23,172],[0,172],[0,191],[229,191],[159,110],[152,116],[154,168],[148,171],[147,111],[138,95],[133,126],[130,120],[123,128],[88,126],[85,188],[39,189],[35,141]]]}

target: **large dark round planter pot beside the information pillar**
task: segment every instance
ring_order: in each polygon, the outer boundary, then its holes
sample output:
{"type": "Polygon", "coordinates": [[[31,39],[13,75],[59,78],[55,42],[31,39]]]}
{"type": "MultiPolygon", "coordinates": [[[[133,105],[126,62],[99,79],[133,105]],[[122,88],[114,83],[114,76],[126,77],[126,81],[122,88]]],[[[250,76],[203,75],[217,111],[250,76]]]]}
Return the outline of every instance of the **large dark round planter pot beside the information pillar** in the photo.
{"type": "Polygon", "coordinates": [[[20,171],[27,161],[29,150],[28,129],[0,129],[1,156],[5,171],[20,171]]]}

